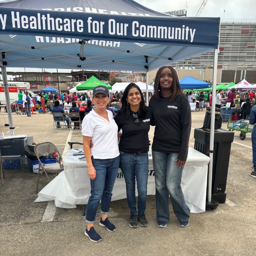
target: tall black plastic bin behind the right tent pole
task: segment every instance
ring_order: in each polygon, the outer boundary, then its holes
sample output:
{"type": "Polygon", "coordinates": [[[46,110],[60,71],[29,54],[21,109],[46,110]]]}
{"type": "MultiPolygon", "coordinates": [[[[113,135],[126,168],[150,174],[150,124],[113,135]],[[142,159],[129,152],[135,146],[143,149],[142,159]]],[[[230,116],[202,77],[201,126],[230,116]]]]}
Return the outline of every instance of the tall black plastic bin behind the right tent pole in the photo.
{"type": "MultiPolygon", "coordinates": [[[[217,129],[214,131],[212,199],[217,200],[219,203],[225,203],[226,201],[225,190],[227,184],[227,172],[229,169],[230,149],[234,134],[233,131],[224,129],[217,129]]],[[[194,148],[204,155],[209,156],[210,132],[203,129],[195,129],[194,138],[194,148]]],[[[206,193],[208,195],[208,178],[206,193]]]]}

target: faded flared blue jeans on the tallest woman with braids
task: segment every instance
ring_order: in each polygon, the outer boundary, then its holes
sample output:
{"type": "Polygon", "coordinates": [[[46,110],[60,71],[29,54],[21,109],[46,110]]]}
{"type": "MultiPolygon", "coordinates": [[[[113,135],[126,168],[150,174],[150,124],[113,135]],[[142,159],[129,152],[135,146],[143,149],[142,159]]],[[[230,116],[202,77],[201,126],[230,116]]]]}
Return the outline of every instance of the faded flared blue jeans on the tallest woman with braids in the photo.
{"type": "Polygon", "coordinates": [[[190,209],[185,203],[180,183],[184,167],[177,167],[177,153],[161,153],[152,150],[156,183],[156,218],[168,222],[169,195],[172,208],[179,221],[188,221],[190,209]]]}

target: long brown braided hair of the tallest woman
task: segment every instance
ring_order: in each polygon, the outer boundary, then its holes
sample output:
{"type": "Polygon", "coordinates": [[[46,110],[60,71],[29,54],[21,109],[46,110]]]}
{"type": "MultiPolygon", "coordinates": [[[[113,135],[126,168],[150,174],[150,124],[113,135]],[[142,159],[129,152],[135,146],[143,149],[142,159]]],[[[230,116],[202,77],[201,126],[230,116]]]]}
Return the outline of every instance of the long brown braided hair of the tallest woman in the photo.
{"type": "Polygon", "coordinates": [[[181,87],[180,87],[180,82],[179,82],[179,79],[177,76],[177,72],[171,66],[163,66],[158,69],[158,71],[156,73],[156,78],[155,78],[154,95],[157,100],[160,100],[160,96],[159,96],[159,91],[161,90],[160,77],[161,77],[161,72],[165,68],[169,68],[172,72],[172,86],[170,88],[171,89],[170,101],[173,101],[178,95],[181,94],[181,87]]]}

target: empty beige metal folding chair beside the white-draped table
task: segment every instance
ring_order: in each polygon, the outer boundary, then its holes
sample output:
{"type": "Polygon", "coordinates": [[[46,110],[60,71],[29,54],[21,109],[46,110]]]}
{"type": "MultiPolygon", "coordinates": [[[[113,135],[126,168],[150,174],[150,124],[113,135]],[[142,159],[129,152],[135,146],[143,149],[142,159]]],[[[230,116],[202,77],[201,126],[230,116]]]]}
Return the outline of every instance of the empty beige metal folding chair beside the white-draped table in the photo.
{"type": "MultiPolygon", "coordinates": [[[[39,143],[39,144],[35,145],[35,155],[37,157],[37,160],[39,161],[38,174],[37,174],[37,186],[36,186],[36,193],[37,193],[40,171],[44,172],[44,174],[46,175],[47,179],[50,182],[50,178],[53,178],[56,175],[58,175],[59,172],[62,172],[64,170],[64,166],[61,163],[62,157],[60,155],[60,152],[55,147],[55,145],[53,145],[53,143],[51,143],[51,142],[43,142],[43,143],[39,143]],[[57,153],[60,157],[59,158],[60,163],[53,163],[53,164],[49,164],[48,166],[43,166],[43,164],[40,161],[40,157],[42,157],[43,155],[46,155],[46,154],[50,154],[50,153],[57,153]],[[53,175],[52,177],[49,178],[49,176],[47,174],[49,172],[56,173],[56,175],[53,175]]],[[[47,179],[43,179],[43,180],[47,180],[47,179]]],[[[40,180],[40,182],[43,180],[40,180]]]]}

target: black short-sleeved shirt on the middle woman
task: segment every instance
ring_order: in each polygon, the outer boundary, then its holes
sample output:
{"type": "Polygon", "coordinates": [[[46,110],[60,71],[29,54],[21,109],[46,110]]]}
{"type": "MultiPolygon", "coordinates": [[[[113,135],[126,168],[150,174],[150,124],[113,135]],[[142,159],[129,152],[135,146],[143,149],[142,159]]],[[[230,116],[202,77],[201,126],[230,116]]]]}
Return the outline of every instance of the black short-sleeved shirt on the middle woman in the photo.
{"type": "Polygon", "coordinates": [[[138,117],[140,125],[134,123],[136,119],[132,116],[133,113],[130,111],[129,118],[126,118],[125,114],[119,113],[114,117],[118,125],[118,131],[122,129],[119,150],[125,153],[148,152],[148,132],[152,111],[149,108],[144,117],[138,117]]]}

